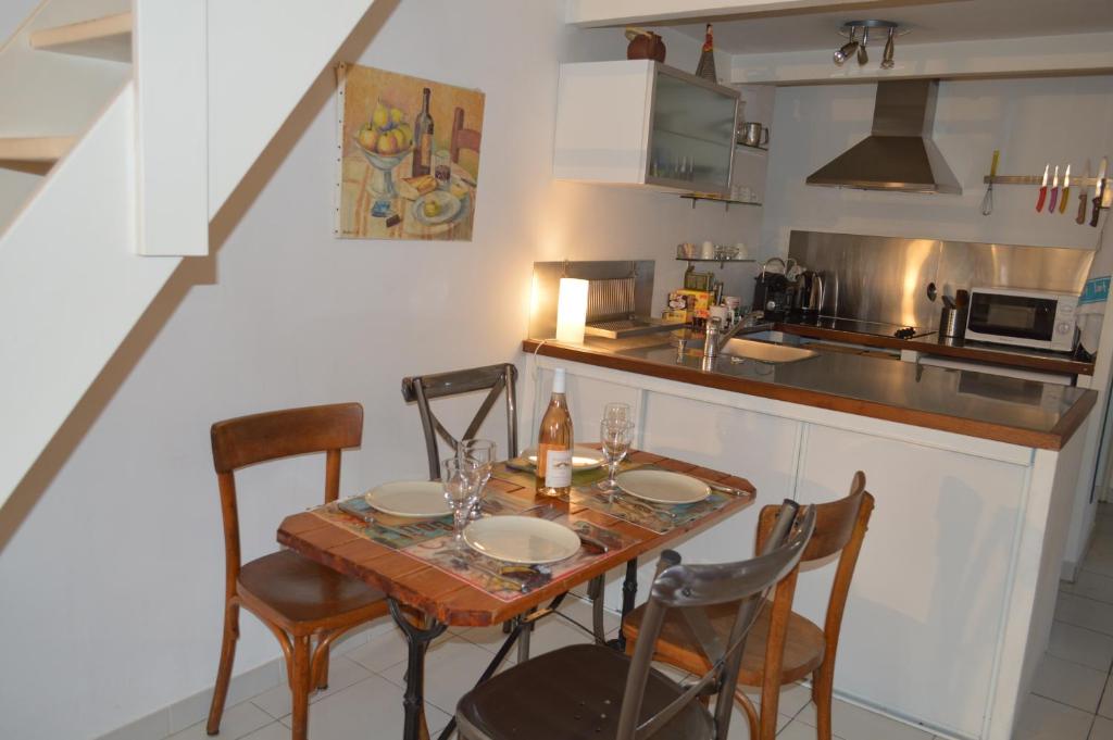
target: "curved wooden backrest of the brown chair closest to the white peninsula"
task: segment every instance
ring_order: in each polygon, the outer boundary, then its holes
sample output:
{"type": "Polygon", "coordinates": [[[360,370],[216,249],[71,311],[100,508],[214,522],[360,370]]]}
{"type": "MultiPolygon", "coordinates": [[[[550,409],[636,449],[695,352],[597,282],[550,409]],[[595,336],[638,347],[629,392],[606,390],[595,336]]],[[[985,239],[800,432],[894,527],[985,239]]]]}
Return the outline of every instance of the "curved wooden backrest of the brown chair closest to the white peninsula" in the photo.
{"type": "MultiPolygon", "coordinates": [[[[779,506],[769,505],[758,515],[758,549],[766,545],[770,536],[774,539],[779,506]]],[[[834,661],[838,649],[839,631],[843,628],[843,613],[850,592],[850,580],[858,563],[858,553],[866,536],[869,516],[874,511],[874,496],[866,491],[866,474],[858,471],[850,482],[850,493],[845,499],[812,506],[816,511],[816,531],[804,550],[800,563],[825,560],[841,552],[827,602],[827,616],[824,622],[824,661],[834,661]]],[[[796,581],[799,568],[777,584],[769,618],[769,635],[766,641],[764,682],[761,685],[761,724],[762,734],[776,729],[777,701],[780,695],[780,675],[785,659],[785,641],[788,635],[788,623],[792,612],[792,598],[796,593],[796,581]],[[770,711],[766,711],[771,708],[770,711]]]]}

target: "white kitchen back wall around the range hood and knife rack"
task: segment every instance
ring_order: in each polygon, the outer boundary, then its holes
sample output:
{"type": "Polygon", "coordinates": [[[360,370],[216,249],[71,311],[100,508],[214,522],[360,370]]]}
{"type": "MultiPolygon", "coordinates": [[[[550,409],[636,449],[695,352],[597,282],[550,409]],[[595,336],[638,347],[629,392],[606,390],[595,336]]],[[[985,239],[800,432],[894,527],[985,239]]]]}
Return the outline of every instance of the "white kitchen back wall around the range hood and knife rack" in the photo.
{"type": "MultiPolygon", "coordinates": [[[[1093,249],[1097,230],[1066,214],[1035,213],[1036,188],[994,188],[982,216],[982,177],[994,149],[1001,175],[1036,175],[1113,150],[1113,77],[991,79],[939,83],[934,139],[963,186],[961,196],[924,196],[806,186],[804,179],[869,132],[876,85],[777,90],[769,199],[762,241],[788,248],[790,229],[1093,249]]],[[[1077,195],[1077,189],[1074,190],[1077,195]]],[[[1074,213],[1076,201],[1072,203],[1074,213]]]]}

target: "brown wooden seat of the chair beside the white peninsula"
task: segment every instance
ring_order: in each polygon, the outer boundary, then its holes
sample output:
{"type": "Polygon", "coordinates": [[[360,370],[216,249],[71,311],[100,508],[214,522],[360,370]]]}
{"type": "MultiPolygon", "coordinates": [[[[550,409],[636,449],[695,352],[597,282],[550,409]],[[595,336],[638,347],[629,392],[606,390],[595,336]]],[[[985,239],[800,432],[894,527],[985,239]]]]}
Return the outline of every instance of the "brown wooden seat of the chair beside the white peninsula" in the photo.
{"type": "MultiPolygon", "coordinates": [[[[761,609],[758,621],[746,638],[746,652],[738,672],[738,682],[743,685],[761,685],[771,611],[772,603],[767,601],[761,609]]],[[[623,633],[631,641],[628,644],[632,644],[632,641],[637,640],[643,613],[644,606],[639,606],[630,612],[622,623],[623,633]]],[[[707,609],[712,626],[723,638],[729,633],[736,613],[729,605],[707,609]]],[[[819,664],[824,662],[824,631],[810,620],[791,612],[788,619],[788,634],[785,638],[781,683],[799,681],[819,668],[819,664]]],[[[688,621],[679,610],[671,610],[666,616],[664,625],[661,628],[661,637],[657,641],[657,654],[662,662],[673,664],[691,673],[703,673],[711,667],[691,628],[688,626],[688,621]]]]}

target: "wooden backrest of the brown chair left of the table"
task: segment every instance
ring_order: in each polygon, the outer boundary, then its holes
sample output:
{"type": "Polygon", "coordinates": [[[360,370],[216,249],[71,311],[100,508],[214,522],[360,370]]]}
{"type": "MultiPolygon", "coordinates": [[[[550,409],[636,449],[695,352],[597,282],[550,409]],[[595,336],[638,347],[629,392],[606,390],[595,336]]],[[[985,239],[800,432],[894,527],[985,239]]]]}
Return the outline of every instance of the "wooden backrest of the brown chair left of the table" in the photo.
{"type": "Polygon", "coordinates": [[[325,503],[341,486],[341,451],[363,438],[363,406],[357,403],[307,406],[239,416],[213,425],[213,464],[224,516],[225,586],[235,594],[239,575],[239,513],[235,472],[279,457],[325,453],[325,503]]]}

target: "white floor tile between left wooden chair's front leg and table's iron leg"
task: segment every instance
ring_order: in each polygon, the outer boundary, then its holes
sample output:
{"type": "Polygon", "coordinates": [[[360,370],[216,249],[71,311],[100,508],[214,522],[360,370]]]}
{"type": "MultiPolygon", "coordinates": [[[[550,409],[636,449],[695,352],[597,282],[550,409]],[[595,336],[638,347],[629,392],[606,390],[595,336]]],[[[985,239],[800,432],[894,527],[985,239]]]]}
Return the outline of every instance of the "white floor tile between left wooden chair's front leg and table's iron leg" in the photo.
{"type": "MultiPolygon", "coordinates": [[[[449,719],[425,702],[425,721],[431,733],[447,724],[449,719]]],[[[308,734],[313,740],[400,738],[403,720],[402,689],[381,675],[372,675],[314,704],[309,709],[308,734]]],[[[288,738],[288,716],[283,718],[283,724],[287,727],[284,737],[288,738]]]]}

